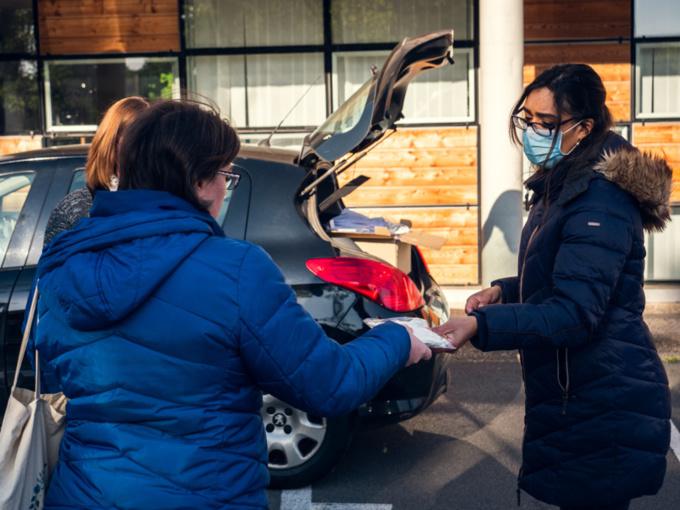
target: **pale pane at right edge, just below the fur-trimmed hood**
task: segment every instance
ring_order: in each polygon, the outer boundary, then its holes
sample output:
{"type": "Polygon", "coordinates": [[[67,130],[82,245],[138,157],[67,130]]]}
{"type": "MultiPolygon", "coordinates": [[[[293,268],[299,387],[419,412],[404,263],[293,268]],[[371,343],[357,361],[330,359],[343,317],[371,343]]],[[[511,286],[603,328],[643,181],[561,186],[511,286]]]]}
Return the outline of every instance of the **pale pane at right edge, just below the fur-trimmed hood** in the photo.
{"type": "Polygon", "coordinates": [[[680,280],[680,207],[661,233],[647,234],[647,280],[680,280]]]}

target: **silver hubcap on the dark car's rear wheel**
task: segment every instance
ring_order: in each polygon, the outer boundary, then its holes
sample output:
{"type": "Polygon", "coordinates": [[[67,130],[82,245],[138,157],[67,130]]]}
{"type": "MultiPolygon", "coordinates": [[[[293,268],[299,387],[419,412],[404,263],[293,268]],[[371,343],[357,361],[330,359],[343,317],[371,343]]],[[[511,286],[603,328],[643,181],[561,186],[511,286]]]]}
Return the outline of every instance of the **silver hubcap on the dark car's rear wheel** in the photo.
{"type": "Polygon", "coordinates": [[[314,416],[265,395],[262,421],[267,432],[270,469],[290,469],[307,462],[326,437],[326,418],[314,416]]]}

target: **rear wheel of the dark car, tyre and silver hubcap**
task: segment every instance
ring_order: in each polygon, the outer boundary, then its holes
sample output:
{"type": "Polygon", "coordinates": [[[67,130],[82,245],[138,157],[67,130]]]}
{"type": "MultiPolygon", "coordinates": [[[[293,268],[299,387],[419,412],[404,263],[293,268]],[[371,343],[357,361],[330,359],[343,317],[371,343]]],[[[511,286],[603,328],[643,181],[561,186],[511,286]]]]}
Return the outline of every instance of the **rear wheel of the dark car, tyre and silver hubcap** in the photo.
{"type": "Polygon", "coordinates": [[[265,395],[262,421],[267,433],[269,486],[303,487],[325,476],[352,439],[354,417],[323,418],[265,395]]]}

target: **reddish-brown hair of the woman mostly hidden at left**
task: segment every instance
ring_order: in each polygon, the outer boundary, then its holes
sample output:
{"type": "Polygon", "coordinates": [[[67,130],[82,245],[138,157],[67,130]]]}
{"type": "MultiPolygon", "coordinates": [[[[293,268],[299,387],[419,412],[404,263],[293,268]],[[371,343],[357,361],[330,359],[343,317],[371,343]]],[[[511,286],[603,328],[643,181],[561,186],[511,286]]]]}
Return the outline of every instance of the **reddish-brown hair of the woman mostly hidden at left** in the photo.
{"type": "Polygon", "coordinates": [[[121,134],[149,103],[131,96],[113,103],[102,118],[87,154],[85,178],[91,190],[109,189],[111,177],[118,175],[118,144],[121,134]]]}

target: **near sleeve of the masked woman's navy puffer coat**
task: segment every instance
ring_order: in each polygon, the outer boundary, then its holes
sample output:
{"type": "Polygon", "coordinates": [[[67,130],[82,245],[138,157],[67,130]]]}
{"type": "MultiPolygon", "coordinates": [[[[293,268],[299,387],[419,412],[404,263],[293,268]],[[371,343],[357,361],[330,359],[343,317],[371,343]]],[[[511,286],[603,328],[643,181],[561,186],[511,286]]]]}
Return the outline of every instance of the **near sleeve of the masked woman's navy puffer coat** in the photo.
{"type": "Polygon", "coordinates": [[[604,316],[633,239],[632,220],[611,211],[575,211],[566,217],[542,303],[504,304],[476,312],[483,351],[574,347],[590,339],[604,316]]]}

